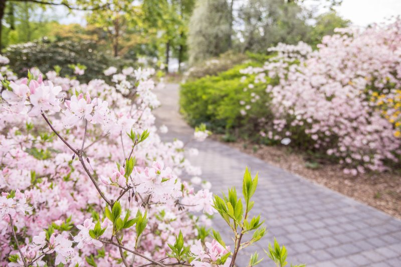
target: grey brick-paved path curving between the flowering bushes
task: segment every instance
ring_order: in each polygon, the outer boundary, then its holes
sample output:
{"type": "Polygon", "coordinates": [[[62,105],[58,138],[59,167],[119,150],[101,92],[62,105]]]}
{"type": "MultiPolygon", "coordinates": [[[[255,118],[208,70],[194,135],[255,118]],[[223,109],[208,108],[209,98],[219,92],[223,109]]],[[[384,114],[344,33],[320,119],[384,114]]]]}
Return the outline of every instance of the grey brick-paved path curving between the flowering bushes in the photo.
{"type": "MultiPolygon", "coordinates": [[[[162,121],[169,128],[164,140],[186,141],[193,133],[178,114],[178,90],[175,84],[155,90],[163,104],[155,110],[156,124],[162,121]]],[[[189,146],[199,150],[190,161],[202,167],[202,177],[212,183],[215,193],[232,186],[242,191],[245,166],[252,175],[259,172],[253,212],[266,219],[268,233],[241,254],[240,267],[247,266],[255,250],[265,258],[258,266],[274,266],[263,252],[274,236],[288,249],[288,266],[291,262],[308,267],[401,266],[400,220],[225,144],[207,140],[189,146]]],[[[218,216],[214,227],[229,243],[231,235],[218,216]]]]}

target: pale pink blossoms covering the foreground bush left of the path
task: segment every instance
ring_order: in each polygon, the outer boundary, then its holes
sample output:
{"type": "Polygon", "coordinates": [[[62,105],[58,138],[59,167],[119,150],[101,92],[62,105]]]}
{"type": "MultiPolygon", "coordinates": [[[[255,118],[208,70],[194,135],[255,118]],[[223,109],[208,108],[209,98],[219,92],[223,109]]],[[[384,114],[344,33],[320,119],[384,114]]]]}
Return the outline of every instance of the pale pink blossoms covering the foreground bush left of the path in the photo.
{"type": "MultiPolygon", "coordinates": [[[[113,69],[107,73],[118,75],[113,69]]],[[[212,193],[196,191],[179,178],[184,172],[198,176],[200,170],[185,158],[181,141],[162,142],[157,134],[152,108],[159,102],[152,93],[151,74],[128,68],[109,85],[103,80],[80,84],[55,72],[47,73],[46,80],[33,71],[3,90],[0,265],[14,256],[10,266],[24,266],[24,260],[39,266],[84,266],[87,257],[97,255],[98,266],[121,266],[118,247],[91,235],[99,220],[105,229],[101,238],[113,236],[113,222],[103,215],[107,203],[94,183],[106,199],[115,201],[123,195],[118,199],[122,216],[147,213],[139,240],[131,227],[124,230],[123,242],[138,243],[137,251],[157,260],[167,256],[168,244],[174,243],[179,231],[191,245],[197,240],[197,225],[210,225],[202,213],[214,212],[212,193]],[[125,83],[130,75],[135,86],[125,83]],[[133,91],[130,97],[118,89],[122,84],[133,91]],[[149,136],[133,143],[130,133],[135,137],[146,130],[149,136]],[[94,182],[66,143],[85,160],[94,182]],[[135,160],[130,175],[128,158],[135,160]],[[21,252],[15,249],[13,229],[21,252]]],[[[134,265],[149,262],[131,252],[126,260],[134,265]]],[[[164,262],[169,260],[173,259],[164,262]]]]}

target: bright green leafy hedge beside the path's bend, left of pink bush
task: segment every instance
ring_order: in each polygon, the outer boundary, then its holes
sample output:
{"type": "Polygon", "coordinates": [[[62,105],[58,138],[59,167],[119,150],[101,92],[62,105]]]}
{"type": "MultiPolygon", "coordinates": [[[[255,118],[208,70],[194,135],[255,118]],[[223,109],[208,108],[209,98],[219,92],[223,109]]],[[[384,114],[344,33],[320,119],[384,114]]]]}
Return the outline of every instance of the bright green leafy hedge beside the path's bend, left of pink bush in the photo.
{"type": "MultiPolygon", "coordinates": [[[[242,135],[258,133],[258,119],[272,117],[269,106],[266,105],[270,100],[266,99],[267,94],[263,94],[266,83],[254,85],[253,89],[244,91],[255,79],[254,75],[244,76],[240,73],[249,66],[260,67],[262,64],[250,62],[237,65],[217,76],[206,76],[181,84],[180,110],[188,123],[192,126],[206,123],[218,133],[231,129],[242,135]],[[240,105],[240,101],[246,100],[249,103],[252,93],[259,95],[260,99],[246,110],[244,105],[240,105]],[[241,110],[246,110],[247,114],[242,115],[241,110]]],[[[271,82],[267,80],[267,83],[271,82]]]]}

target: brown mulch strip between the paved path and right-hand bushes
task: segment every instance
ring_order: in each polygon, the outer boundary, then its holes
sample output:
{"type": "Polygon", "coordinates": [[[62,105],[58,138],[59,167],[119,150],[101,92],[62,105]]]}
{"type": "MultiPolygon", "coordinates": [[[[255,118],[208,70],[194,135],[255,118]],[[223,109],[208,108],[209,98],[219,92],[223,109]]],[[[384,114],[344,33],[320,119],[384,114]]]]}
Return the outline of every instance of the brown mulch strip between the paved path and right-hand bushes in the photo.
{"type": "MultiPolygon", "coordinates": [[[[220,141],[221,137],[213,135],[212,139],[220,141]]],[[[241,140],[226,144],[401,218],[400,173],[365,173],[351,176],[344,174],[339,164],[311,165],[304,155],[291,152],[285,146],[255,145],[241,140]]]]}

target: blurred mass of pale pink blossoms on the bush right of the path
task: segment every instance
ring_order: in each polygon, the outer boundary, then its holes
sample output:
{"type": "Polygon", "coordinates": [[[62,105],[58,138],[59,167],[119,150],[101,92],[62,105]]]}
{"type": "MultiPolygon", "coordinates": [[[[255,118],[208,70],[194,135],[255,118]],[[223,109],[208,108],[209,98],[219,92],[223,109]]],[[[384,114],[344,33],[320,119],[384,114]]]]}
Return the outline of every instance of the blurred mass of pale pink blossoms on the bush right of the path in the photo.
{"type": "Polygon", "coordinates": [[[251,105],[271,110],[273,119],[259,118],[263,138],[290,138],[337,159],[353,175],[399,164],[401,139],[371,98],[401,87],[400,19],[364,31],[338,29],[314,52],[303,43],[270,51],[278,55],[263,67],[242,71],[266,85],[263,93],[244,89],[250,100],[241,103],[243,116],[251,105]]]}

